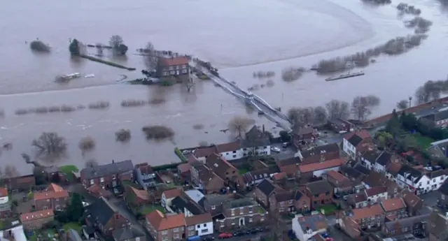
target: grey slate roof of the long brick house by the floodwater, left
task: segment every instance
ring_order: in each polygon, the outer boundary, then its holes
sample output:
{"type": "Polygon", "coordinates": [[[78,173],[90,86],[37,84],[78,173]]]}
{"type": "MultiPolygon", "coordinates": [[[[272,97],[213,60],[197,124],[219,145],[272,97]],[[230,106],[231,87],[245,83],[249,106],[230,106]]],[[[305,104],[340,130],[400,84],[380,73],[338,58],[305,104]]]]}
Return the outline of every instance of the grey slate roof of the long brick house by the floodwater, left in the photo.
{"type": "Polygon", "coordinates": [[[132,164],[131,160],[126,160],[94,166],[93,168],[83,168],[83,170],[80,171],[80,176],[83,179],[93,179],[116,173],[125,173],[130,170],[134,170],[134,164],[132,164]]]}

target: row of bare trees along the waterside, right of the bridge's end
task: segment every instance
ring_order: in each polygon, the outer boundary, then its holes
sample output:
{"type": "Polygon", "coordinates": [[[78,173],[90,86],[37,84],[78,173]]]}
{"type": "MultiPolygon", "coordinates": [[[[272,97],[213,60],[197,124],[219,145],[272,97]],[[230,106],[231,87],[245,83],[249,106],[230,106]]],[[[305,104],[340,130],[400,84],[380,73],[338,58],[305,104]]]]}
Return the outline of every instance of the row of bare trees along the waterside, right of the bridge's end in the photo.
{"type": "Polygon", "coordinates": [[[332,100],[325,106],[291,108],[287,116],[293,125],[298,126],[307,124],[316,126],[325,124],[331,119],[349,119],[350,117],[365,120],[379,103],[380,99],[374,95],[356,96],[351,104],[346,101],[332,100]]]}

